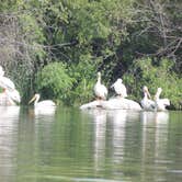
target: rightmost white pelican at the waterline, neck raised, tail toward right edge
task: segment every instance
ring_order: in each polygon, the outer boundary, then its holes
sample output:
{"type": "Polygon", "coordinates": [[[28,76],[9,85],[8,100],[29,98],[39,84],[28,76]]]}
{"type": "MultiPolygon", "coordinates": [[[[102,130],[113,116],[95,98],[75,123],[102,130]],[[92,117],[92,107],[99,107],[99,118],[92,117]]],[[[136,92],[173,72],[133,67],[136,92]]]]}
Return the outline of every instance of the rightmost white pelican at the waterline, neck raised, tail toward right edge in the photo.
{"type": "Polygon", "coordinates": [[[161,92],[162,92],[162,89],[158,88],[156,95],[155,95],[155,103],[156,103],[156,107],[158,111],[164,111],[166,106],[170,105],[169,99],[159,99],[161,92]]]}

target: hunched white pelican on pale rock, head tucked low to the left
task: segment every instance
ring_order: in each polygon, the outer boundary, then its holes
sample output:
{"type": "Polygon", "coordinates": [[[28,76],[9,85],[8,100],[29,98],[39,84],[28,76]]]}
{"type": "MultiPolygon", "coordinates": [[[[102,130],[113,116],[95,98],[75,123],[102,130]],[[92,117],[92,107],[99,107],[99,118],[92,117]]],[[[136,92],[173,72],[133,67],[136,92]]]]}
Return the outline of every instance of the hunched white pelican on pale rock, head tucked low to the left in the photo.
{"type": "Polygon", "coordinates": [[[125,84],[122,83],[122,79],[118,78],[112,86],[111,88],[114,88],[115,92],[117,95],[121,98],[126,98],[127,96],[127,90],[125,84]]]}

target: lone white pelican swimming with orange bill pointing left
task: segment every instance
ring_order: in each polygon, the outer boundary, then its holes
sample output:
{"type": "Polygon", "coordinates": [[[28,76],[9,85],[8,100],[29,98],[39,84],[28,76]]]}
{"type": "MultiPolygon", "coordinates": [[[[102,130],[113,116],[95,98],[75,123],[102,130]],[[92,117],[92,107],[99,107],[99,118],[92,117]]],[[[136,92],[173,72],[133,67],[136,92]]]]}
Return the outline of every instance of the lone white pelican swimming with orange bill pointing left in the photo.
{"type": "Polygon", "coordinates": [[[30,100],[29,104],[34,101],[34,106],[44,109],[44,107],[53,107],[56,106],[56,104],[52,100],[44,100],[38,102],[41,95],[38,93],[35,93],[34,96],[30,100]]]}

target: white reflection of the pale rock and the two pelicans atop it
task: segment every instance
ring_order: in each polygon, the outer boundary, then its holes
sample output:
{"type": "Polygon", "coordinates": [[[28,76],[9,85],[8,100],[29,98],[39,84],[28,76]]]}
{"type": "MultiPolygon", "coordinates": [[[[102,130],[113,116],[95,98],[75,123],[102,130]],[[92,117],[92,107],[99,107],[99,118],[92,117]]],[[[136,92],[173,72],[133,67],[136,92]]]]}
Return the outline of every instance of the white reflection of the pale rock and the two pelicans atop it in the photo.
{"type": "Polygon", "coordinates": [[[115,164],[122,163],[125,152],[126,123],[138,120],[139,112],[102,109],[87,110],[84,112],[90,114],[94,122],[95,172],[103,167],[106,155],[110,155],[113,168],[117,168],[115,164]],[[106,149],[110,151],[106,152],[106,149]]]}

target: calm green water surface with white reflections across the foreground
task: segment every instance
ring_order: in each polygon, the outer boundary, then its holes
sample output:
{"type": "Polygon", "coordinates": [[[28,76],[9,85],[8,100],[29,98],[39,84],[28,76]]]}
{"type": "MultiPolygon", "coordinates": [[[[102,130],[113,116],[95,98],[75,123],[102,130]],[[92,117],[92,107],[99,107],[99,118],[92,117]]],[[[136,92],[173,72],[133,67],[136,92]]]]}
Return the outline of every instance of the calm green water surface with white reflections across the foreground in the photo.
{"type": "Polygon", "coordinates": [[[0,107],[1,182],[181,182],[182,112],[0,107]]]}

